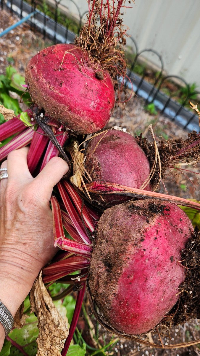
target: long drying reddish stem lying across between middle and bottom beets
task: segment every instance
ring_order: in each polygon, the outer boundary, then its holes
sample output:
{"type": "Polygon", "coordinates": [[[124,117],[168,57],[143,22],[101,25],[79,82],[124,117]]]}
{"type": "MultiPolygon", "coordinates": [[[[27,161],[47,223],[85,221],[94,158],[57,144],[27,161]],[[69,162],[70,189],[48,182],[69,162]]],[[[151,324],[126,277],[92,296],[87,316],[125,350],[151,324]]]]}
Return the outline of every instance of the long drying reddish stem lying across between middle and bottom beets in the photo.
{"type": "Polygon", "coordinates": [[[88,192],[95,194],[119,194],[141,199],[161,199],[164,201],[169,201],[172,204],[189,206],[189,208],[194,208],[200,211],[199,203],[188,199],[175,197],[174,195],[161,194],[156,192],[150,192],[148,190],[126,187],[125,185],[103,182],[102,180],[88,183],[86,184],[86,187],[88,189],[88,192]]]}

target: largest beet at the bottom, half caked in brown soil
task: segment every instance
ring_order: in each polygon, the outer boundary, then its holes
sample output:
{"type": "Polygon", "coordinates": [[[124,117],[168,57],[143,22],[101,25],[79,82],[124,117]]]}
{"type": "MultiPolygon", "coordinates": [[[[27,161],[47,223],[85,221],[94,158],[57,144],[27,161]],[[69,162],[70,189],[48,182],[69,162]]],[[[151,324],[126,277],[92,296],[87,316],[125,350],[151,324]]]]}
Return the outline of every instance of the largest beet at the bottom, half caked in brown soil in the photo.
{"type": "Polygon", "coordinates": [[[107,324],[137,335],[160,323],[179,298],[180,251],[193,231],[178,206],[161,200],[129,201],[103,213],[88,284],[107,324]]]}

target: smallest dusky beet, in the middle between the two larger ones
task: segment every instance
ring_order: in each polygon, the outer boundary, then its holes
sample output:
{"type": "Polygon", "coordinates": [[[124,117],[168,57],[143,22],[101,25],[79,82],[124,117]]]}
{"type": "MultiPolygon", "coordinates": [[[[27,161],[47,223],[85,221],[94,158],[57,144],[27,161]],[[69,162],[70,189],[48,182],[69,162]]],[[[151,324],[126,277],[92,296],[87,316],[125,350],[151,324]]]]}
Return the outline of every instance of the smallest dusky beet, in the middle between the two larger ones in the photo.
{"type": "MultiPolygon", "coordinates": [[[[105,132],[94,136],[87,144],[85,151],[87,172],[93,180],[140,188],[150,174],[150,164],[144,151],[135,137],[128,132],[114,129],[105,132]]],[[[145,189],[151,190],[151,185],[148,184],[145,189]]],[[[102,202],[98,195],[95,199],[102,202]]],[[[103,195],[103,199],[106,202],[116,199],[118,202],[130,198],[122,195],[103,195]]]]}

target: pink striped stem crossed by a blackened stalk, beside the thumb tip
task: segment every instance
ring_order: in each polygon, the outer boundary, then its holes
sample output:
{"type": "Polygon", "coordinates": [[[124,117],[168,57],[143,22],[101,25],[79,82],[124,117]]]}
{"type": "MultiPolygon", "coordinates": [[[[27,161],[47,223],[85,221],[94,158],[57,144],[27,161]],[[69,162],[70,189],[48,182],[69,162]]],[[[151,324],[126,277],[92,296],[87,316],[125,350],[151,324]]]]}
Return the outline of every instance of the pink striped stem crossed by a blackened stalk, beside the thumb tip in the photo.
{"type": "MultiPolygon", "coordinates": [[[[66,142],[67,138],[69,138],[69,131],[66,133],[63,133],[62,131],[59,131],[59,129],[56,128],[55,131],[55,136],[60,143],[60,146],[63,147],[64,143],[66,142]],[[58,135],[58,136],[56,136],[58,135]]],[[[54,143],[49,141],[47,150],[45,151],[45,156],[43,158],[42,166],[40,168],[40,171],[44,168],[44,166],[50,161],[51,158],[53,157],[58,157],[60,155],[60,152],[57,150],[57,148],[54,146],[54,143]]]]}

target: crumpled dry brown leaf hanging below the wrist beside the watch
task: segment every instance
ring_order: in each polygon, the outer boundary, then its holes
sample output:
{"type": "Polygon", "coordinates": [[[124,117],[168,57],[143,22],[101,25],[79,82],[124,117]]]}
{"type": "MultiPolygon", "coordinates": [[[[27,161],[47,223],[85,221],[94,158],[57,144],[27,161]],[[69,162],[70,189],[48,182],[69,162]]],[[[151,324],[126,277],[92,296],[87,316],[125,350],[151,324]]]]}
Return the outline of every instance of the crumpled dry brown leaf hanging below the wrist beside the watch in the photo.
{"type": "Polygon", "coordinates": [[[31,289],[30,303],[31,311],[38,317],[37,356],[60,356],[59,349],[69,330],[44,286],[42,271],[31,289]]]}

